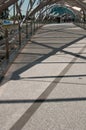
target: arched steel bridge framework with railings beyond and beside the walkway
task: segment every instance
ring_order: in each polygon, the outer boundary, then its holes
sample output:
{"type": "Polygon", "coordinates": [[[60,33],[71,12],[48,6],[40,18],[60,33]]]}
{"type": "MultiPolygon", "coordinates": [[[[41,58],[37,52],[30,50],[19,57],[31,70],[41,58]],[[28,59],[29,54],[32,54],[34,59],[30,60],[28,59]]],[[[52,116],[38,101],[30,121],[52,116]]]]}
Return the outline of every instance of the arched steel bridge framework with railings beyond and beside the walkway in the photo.
{"type": "Polygon", "coordinates": [[[63,22],[86,29],[86,0],[0,0],[0,78],[37,29],[63,22]]]}

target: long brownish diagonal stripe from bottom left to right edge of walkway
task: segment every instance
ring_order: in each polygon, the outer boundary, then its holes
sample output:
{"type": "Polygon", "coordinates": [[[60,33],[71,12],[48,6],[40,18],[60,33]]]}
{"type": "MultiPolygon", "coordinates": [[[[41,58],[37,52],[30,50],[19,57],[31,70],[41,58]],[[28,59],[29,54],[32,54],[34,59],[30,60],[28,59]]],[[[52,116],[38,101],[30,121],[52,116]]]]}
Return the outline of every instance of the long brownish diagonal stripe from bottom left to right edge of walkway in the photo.
{"type": "MultiPolygon", "coordinates": [[[[86,46],[85,46],[86,47],[86,46]]],[[[85,47],[83,47],[79,53],[83,52],[85,47]]],[[[75,62],[77,60],[76,57],[72,59],[71,62],[75,62]]],[[[44,101],[46,101],[49,94],[55,89],[57,84],[61,81],[61,75],[65,75],[67,71],[71,68],[72,64],[68,64],[63,71],[59,74],[59,78],[56,78],[47,89],[37,98],[37,100],[26,110],[26,112],[20,117],[20,119],[10,128],[10,130],[21,130],[24,125],[28,122],[28,120],[32,117],[32,115],[37,111],[37,109],[42,105],[44,101]],[[43,99],[43,100],[42,100],[43,99]],[[37,102],[41,100],[41,102],[37,102]]]]}

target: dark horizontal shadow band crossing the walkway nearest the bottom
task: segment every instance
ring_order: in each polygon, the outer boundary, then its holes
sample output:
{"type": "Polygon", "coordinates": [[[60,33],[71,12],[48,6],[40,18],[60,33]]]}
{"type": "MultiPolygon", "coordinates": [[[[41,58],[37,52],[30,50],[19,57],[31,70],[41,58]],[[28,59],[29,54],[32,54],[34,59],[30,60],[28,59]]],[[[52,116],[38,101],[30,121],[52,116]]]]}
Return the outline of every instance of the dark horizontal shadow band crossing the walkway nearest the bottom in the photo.
{"type": "Polygon", "coordinates": [[[0,100],[0,104],[25,104],[25,103],[59,103],[59,102],[81,102],[86,101],[86,97],[74,97],[74,98],[55,98],[55,99],[12,99],[12,100],[0,100]]]}

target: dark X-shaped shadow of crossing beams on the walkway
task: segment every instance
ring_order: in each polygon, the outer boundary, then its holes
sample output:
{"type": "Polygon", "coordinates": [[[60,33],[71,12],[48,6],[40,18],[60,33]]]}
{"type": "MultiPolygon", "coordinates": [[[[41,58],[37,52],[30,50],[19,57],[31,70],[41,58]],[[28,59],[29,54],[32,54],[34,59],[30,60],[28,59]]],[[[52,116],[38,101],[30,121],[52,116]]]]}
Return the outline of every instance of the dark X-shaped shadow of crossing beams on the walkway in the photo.
{"type": "MultiPolygon", "coordinates": [[[[57,47],[51,47],[50,45],[45,45],[43,43],[38,43],[38,42],[31,41],[32,42],[31,44],[38,45],[38,46],[43,46],[43,47],[45,47],[47,49],[50,49],[49,52],[47,54],[41,55],[41,57],[38,57],[38,58],[36,57],[36,60],[32,61],[31,63],[28,62],[23,67],[20,67],[18,70],[15,70],[9,80],[19,80],[19,79],[21,79],[19,75],[21,73],[23,73],[24,71],[26,71],[27,69],[30,69],[34,65],[41,63],[43,60],[45,60],[48,57],[56,54],[57,52],[63,51],[63,49],[65,49],[65,48],[71,46],[72,44],[74,44],[74,43],[76,43],[76,42],[84,39],[85,37],[86,37],[86,35],[83,35],[83,36],[81,36],[81,37],[73,40],[70,43],[67,43],[67,44],[64,43],[64,45],[62,44],[59,48],[57,48],[57,47]]],[[[68,52],[65,52],[65,53],[68,53],[68,52]]],[[[69,54],[71,54],[71,53],[69,53],[69,54]]],[[[86,59],[85,57],[79,56],[78,54],[72,54],[72,55],[75,56],[75,57],[86,59]]],[[[5,81],[5,82],[7,82],[7,81],[5,81]]],[[[5,82],[3,82],[3,83],[5,83],[5,82]]]]}

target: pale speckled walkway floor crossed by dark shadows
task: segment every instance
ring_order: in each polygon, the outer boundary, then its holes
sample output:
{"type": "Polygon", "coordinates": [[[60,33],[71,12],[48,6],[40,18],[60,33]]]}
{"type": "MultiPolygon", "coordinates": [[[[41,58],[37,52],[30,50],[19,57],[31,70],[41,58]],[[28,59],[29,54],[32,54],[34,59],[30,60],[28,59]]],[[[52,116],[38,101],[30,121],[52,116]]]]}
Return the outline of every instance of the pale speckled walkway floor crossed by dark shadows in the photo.
{"type": "Polygon", "coordinates": [[[40,28],[0,85],[1,130],[86,129],[86,30],[40,28]]]}

